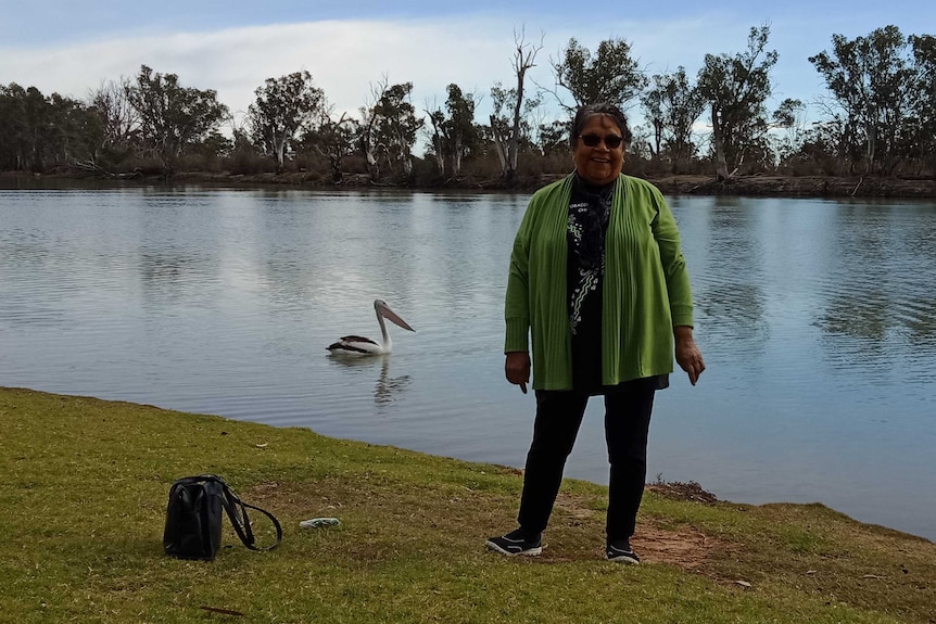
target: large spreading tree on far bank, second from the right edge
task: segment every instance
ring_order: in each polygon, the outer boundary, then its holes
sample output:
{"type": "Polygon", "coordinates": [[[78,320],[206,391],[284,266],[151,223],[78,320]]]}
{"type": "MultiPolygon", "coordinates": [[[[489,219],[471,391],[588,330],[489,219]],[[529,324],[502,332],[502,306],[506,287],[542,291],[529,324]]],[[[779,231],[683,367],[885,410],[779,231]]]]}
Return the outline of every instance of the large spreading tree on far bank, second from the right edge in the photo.
{"type": "Polygon", "coordinates": [[[859,143],[849,148],[863,148],[868,171],[891,173],[916,92],[900,29],[885,26],[855,39],[833,35],[832,52],[822,51],[809,62],[844,112],[846,136],[859,143]]]}

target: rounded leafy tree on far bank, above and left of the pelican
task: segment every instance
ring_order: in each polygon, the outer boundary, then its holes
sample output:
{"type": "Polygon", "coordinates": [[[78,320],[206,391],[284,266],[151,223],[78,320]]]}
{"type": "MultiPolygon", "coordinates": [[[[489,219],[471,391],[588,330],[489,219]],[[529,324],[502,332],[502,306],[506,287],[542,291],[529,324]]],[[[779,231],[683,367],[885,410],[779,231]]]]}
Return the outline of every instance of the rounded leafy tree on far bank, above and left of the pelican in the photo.
{"type": "Polygon", "coordinates": [[[286,151],[300,132],[318,118],[325,92],[315,87],[308,72],[293,72],[267,78],[254,91],[256,100],[248,107],[251,137],[263,152],[274,158],[276,173],[284,168],[286,151]]]}

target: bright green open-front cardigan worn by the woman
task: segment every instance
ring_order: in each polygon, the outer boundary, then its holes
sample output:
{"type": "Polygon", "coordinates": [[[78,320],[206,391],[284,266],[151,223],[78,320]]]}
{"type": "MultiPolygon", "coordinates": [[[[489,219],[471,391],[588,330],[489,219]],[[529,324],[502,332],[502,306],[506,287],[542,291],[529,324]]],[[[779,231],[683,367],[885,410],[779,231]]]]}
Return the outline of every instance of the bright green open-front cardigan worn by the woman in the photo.
{"type": "MultiPolygon", "coordinates": [[[[504,351],[529,351],[533,387],[571,390],[567,228],[573,175],[530,199],[510,254],[504,351]]],[[[605,238],[602,382],[673,370],[673,327],[693,324],[676,222],[660,191],[620,176],[605,238]]]]}

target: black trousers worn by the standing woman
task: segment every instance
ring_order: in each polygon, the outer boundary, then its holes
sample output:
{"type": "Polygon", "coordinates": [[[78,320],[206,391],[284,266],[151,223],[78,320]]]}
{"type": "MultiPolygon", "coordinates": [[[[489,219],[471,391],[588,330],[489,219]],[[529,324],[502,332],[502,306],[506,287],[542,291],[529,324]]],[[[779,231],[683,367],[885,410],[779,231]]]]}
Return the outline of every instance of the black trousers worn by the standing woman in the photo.
{"type": "MultiPolygon", "coordinates": [[[[647,476],[647,434],[654,393],[637,386],[605,395],[605,440],[611,464],[605,527],[609,542],[634,534],[647,476]]],[[[533,442],[527,454],[517,518],[528,534],[546,529],[587,403],[589,395],[581,392],[536,391],[533,442]]]]}

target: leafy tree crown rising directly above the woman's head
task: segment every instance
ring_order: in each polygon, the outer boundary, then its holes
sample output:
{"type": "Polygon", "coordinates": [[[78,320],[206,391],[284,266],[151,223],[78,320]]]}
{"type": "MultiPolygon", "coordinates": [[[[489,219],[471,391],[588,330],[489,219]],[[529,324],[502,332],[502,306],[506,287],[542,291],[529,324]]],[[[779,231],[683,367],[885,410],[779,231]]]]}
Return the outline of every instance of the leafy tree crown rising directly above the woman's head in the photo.
{"type": "Polygon", "coordinates": [[[575,105],[568,106],[557,95],[560,105],[569,112],[599,102],[627,109],[628,102],[647,86],[637,61],[631,58],[631,44],[620,38],[598,43],[594,58],[578,40],[569,39],[560,59],[551,63],[556,85],[568,90],[574,100],[575,105]]]}

